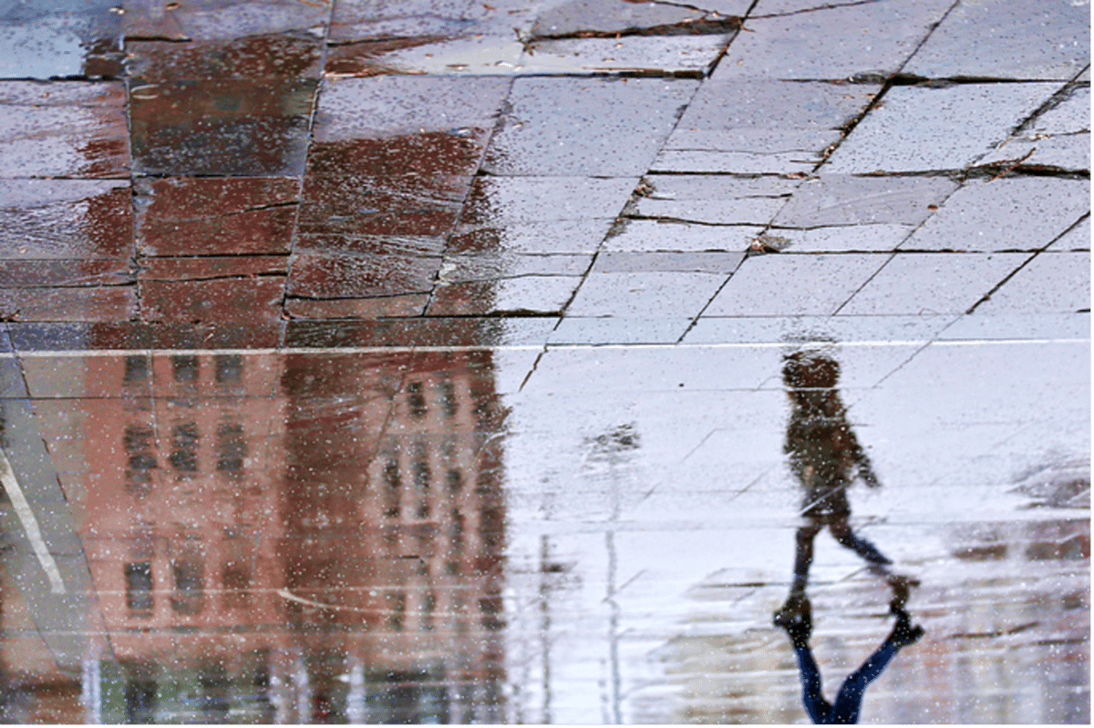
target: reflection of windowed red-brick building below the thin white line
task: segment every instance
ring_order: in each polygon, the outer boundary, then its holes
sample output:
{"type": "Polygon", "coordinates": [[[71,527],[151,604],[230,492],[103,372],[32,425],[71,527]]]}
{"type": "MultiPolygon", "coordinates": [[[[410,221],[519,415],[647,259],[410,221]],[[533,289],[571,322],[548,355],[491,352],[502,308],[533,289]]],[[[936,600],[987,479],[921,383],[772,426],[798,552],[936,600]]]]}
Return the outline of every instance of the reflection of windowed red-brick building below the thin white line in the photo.
{"type": "Polygon", "coordinates": [[[501,718],[489,353],[135,354],[85,376],[120,383],[81,414],[118,660],[94,667],[102,717],[501,718]]]}

